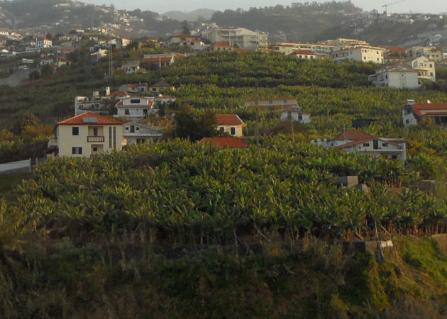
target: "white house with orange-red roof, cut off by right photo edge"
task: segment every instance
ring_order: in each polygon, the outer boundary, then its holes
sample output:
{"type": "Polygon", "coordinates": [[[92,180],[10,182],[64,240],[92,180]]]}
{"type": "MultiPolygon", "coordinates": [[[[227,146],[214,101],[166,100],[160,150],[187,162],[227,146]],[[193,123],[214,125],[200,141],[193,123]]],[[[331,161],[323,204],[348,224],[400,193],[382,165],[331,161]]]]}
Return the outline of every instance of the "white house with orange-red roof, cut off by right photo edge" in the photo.
{"type": "Polygon", "coordinates": [[[416,103],[414,100],[407,100],[402,109],[402,121],[406,128],[417,125],[420,121],[428,121],[438,128],[447,128],[447,103],[416,103]]]}

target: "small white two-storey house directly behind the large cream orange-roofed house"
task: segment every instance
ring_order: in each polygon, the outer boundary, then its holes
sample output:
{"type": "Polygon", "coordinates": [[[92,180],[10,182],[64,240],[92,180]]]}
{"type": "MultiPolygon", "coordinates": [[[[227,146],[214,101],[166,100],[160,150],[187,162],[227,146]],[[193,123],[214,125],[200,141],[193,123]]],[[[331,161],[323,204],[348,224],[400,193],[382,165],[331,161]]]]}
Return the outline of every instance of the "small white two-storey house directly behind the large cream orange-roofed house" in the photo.
{"type": "Polygon", "coordinates": [[[121,99],[115,105],[115,117],[124,116],[130,120],[140,120],[153,111],[153,99],[148,97],[130,97],[121,99]]]}

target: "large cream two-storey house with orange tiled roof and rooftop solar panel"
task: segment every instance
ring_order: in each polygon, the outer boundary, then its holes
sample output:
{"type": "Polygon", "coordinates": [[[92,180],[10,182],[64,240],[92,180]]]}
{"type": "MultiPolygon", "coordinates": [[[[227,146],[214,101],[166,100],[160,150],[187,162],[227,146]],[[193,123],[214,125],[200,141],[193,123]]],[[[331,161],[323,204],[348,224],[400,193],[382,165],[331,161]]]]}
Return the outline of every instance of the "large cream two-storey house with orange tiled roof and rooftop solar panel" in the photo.
{"type": "Polygon", "coordinates": [[[113,118],[84,112],[57,122],[48,147],[58,156],[91,157],[121,150],[123,124],[113,118]]]}

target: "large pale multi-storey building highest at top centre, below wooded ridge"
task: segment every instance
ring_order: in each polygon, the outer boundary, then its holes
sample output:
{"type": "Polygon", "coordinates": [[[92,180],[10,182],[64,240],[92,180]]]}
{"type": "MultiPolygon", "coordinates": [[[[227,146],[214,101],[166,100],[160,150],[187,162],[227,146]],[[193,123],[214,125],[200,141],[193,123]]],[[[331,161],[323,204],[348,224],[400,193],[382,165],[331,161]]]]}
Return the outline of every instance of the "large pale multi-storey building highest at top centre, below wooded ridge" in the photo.
{"type": "Polygon", "coordinates": [[[268,45],[268,33],[245,28],[214,28],[203,33],[202,38],[206,38],[210,43],[222,41],[246,50],[256,50],[268,45]]]}

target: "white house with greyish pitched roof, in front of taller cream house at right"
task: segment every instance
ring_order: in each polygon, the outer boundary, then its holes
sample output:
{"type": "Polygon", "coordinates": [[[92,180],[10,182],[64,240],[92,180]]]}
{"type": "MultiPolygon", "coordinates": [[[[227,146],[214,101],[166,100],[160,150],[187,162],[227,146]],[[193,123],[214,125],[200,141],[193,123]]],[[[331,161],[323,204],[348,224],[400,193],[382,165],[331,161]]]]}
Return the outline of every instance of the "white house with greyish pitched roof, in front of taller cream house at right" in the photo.
{"type": "Polygon", "coordinates": [[[417,89],[419,87],[418,71],[404,65],[380,69],[375,74],[371,74],[368,80],[375,86],[394,89],[417,89]]]}

